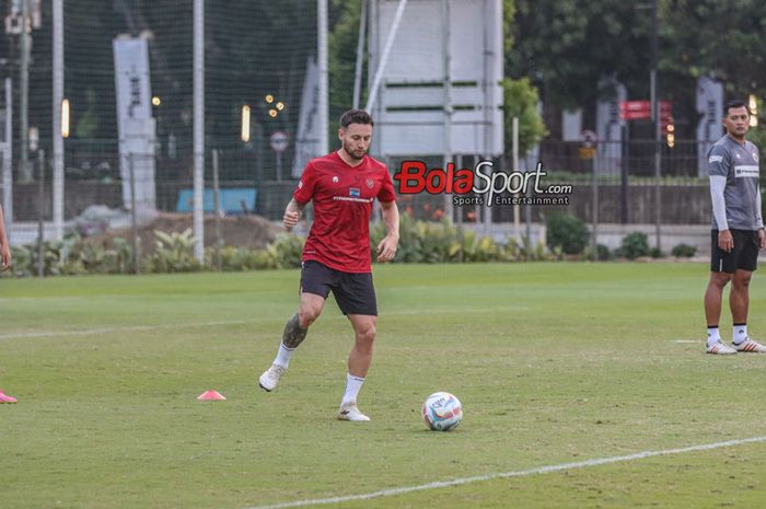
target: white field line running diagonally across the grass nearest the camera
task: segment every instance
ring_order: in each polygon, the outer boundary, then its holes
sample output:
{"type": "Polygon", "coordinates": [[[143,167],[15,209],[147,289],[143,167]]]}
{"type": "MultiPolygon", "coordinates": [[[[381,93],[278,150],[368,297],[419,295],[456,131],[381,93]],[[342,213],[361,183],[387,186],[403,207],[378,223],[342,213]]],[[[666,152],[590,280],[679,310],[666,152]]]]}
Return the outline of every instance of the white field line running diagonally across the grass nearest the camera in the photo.
{"type": "Polygon", "coordinates": [[[627,454],[624,456],[597,458],[594,460],[578,461],[578,462],[573,462],[573,463],[559,463],[557,465],[538,466],[535,468],[521,470],[521,471],[515,471],[515,472],[502,472],[502,473],[495,473],[495,474],[487,474],[487,475],[477,475],[474,477],[459,477],[456,479],[437,481],[434,483],[420,484],[417,486],[403,486],[401,488],[381,489],[380,491],[371,491],[371,493],[365,493],[365,494],[360,494],[360,495],[345,495],[345,496],[330,497],[330,498],[314,498],[314,499],[306,499],[306,500],[295,500],[292,502],[274,504],[270,506],[254,506],[254,507],[248,507],[247,509],[286,509],[286,508],[290,508],[290,507],[323,506],[323,505],[327,505],[327,504],[340,504],[340,502],[347,502],[347,501],[353,501],[353,500],[370,500],[372,498],[392,497],[395,495],[404,495],[404,494],[413,493],[413,491],[425,491],[428,489],[444,488],[444,487],[449,487],[449,486],[461,486],[464,484],[480,483],[484,481],[492,481],[492,479],[509,478],[509,477],[525,477],[529,475],[539,475],[539,474],[550,474],[554,472],[561,472],[561,471],[567,471],[567,470],[588,468],[591,466],[608,465],[612,463],[622,463],[622,462],[627,462],[627,461],[645,460],[647,458],[666,456],[666,455],[672,455],[672,454],[684,454],[686,452],[711,451],[713,449],[743,446],[745,443],[755,443],[755,442],[766,442],[766,436],[743,438],[743,439],[739,439],[739,440],[728,440],[726,442],[705,443],[701,446],[690,446],[690,447],[685,447],[685,448],[680,448],[680,449],[665,449],[665,450],[661,450],[661,451],[643,451],[643,452],[637,452],[634,454],[627,454]]]}

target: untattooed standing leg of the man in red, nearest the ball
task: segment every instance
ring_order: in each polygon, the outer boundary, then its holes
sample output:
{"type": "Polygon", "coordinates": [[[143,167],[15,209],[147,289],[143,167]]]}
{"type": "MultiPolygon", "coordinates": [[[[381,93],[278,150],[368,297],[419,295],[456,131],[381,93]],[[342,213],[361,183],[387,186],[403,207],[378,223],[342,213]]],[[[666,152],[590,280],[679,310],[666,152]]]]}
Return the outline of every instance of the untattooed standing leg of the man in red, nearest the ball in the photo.
{"type": "Polygon", "coordinates": [[[359,412],[357,407],[357,396],[362,383],[364,383],[364,377],[367,377],[370,365],[372,363],[372,345],[375,340],[378,316],[349,314],[348,320],[353,326],[355,342],[348,355],[346,391],[340,402],[338,419],[370,420],[368,416],[359,412]]]}

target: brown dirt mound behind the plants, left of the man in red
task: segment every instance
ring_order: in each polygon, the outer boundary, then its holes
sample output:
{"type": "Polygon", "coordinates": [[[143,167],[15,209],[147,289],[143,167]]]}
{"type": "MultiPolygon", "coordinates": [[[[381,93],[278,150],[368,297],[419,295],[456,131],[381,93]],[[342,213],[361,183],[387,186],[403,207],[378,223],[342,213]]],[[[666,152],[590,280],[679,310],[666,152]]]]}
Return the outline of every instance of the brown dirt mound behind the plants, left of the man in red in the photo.
{"type": "MultiPolygon", "coordinates": [[[[260,216],[225,217],[221,218],[220,221],[223,244],[235,247],[262,248],[274,241],[277,233],[285,231],[280,222],[269,221],[260,216]]],[[[188,213],[161,213],[154,220],[139,227],[138,235],[141,239],[141,251],[143,254],[154,252],[155,230],[165,233],[181,233],[190,228],[193,228],[193,217],[188,213]]],[[[117,236],[130,240],[132,231],[130,228],[111,230],[102,235],[89,236],[88,242],[108,245],[112,239],[117,236]]],[[[206,217],[205,245],[213,245],[214,241],[216,220],[212,217],[206,217]]]]}

